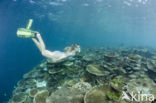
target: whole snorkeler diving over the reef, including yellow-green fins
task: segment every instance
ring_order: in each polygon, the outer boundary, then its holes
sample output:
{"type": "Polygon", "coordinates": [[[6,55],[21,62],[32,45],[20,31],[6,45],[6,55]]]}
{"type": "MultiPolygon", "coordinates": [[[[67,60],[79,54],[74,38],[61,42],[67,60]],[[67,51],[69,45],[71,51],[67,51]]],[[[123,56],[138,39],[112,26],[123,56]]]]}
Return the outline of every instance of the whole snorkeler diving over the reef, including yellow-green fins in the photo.
{"type": "Polygon", "coordinates": [[[17,30],[17,36],[24,38],[32,38],[33,42],[36,44],[41,54],[44,57],[48,58],[49,62],[61,62],[67,57],[75,56],[76,53],[80,52],[80,46],[77,44],[73,44],[71,47],[66,47],[64,49],[65,52],[47,50],[41,35],[37,31],[30,30],[32,22],[33,20],[30,19],[26,28],[19,28],[17,30]]]}

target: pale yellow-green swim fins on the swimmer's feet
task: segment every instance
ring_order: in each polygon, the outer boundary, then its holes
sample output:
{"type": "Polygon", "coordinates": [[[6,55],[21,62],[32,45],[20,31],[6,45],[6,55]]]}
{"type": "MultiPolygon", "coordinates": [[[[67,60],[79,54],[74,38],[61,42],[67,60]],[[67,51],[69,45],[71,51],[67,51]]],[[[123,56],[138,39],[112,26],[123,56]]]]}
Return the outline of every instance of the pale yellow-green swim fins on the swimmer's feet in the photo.
{"type": "Polygon", "coordinates": [[[27,27],[26,28],[18,28],[17,29],[17,36],[18,37],[24,37],[24,38],[34,38],[36,31],[30,30],[32,26],[32,19],[29,19],[27,27]]]}

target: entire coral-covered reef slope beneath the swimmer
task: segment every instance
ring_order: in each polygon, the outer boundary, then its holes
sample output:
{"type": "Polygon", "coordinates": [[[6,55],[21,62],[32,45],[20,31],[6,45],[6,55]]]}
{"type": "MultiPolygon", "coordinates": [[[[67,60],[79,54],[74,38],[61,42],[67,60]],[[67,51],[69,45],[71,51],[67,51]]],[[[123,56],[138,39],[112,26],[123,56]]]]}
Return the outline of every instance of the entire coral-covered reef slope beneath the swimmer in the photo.
{"type": "Polygon", "coordinates": [[[17,83],[8,103],[156,103],[155,77],[154,49],[84,48],[60,63],[42,61],[17,83]]]}

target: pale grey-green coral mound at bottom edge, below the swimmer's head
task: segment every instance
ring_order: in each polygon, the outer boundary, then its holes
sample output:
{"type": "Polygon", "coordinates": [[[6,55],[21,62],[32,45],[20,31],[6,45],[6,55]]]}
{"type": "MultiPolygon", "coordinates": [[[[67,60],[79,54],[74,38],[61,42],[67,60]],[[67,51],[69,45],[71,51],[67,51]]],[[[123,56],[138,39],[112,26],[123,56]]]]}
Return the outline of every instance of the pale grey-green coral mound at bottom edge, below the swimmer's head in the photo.
{"type": "Polygon", "coordinates": [[[84,103],[84,95],[91,85],[80,82],[73,87],[61,87],[52,93],[46,100],[46,103],[84,103]]]}

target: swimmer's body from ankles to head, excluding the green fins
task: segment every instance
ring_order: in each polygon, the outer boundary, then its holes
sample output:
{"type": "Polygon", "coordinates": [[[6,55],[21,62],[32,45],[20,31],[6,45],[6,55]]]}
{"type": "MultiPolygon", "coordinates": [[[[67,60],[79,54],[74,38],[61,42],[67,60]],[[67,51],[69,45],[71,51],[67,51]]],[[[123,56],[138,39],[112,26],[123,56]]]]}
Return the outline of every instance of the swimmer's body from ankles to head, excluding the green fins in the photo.
{"type": "Polygon", "coordinates": [[[52,51],[46,50],[46,46],[45,46],[43,39],[39,33],[36,34],[36,38],[32,38],[32,40],[36,44],[38,49],[40,50],[42,56],[48,58],[48,60],[53,63],[60,62],[60,61],[64,60],[65,58],[67,58],[69,56],[74,56],[74,55],[76,55],[77,52],[80,52],[79,45],[72,45],[71,47],[66,47],[65,52],[60,52],[60,51],[52,52],[52,51]]]}

